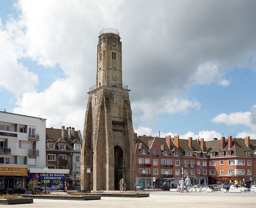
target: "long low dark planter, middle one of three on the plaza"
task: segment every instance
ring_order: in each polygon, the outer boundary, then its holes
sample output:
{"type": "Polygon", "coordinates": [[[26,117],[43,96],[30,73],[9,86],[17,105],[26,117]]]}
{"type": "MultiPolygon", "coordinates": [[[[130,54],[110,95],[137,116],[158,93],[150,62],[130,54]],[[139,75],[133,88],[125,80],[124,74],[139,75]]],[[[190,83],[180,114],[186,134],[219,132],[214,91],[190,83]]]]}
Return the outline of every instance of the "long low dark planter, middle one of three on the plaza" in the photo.
{"type": "Polygon", "coordinates": [[[98,200],[101,199],[101,196],[59,196],[59,195],[21,195],[27,198],[34,199],[60,199],[60,200],[98,200]]]}

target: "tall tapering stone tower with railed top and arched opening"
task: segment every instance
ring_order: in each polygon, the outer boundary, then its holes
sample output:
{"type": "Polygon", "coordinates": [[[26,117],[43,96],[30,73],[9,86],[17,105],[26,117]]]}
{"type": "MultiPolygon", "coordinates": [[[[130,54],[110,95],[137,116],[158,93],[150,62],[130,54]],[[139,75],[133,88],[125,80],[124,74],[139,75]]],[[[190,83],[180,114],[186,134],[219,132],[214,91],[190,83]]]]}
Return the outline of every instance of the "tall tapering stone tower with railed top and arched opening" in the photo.
{"type": "Polygon", "coordinates": [[[81,151],[81,189],[120,190],[135,182],[135,147],[118,30],[100,31],[96,85],[89,88],[81,151]],[[87,173],[89,168],[90,173],[87,173]]]}

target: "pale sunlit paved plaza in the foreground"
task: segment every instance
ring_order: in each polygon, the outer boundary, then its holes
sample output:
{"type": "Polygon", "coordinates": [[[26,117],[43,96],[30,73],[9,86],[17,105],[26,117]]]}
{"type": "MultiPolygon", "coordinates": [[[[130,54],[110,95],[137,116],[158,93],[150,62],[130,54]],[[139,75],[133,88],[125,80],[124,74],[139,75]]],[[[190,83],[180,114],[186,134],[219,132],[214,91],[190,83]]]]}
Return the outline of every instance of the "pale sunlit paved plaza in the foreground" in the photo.
{"type": "MultiPolygon", "coordinates": [[[[141,191],[140,191],[141,192],[141,191]]],[[[150,197],[144,198],[119,198],[102,197],[101,200],[78,201],[78,200],[50,200],[34,199],[33,204],[0,205],[1,208],[85,208],[85,207],[254,207],[254,192],[244,193],[213,193],[192,192],[177,193],[169,191],[147,191],[150,197]]]]}

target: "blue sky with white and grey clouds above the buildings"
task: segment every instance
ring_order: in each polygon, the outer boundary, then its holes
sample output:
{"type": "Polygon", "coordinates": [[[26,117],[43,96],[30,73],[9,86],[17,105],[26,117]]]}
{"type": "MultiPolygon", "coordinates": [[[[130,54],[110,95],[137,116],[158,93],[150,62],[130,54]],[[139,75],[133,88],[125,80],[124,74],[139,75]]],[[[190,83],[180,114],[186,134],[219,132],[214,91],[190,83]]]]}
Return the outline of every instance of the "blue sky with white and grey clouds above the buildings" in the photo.
{"type": "Polygon", "coordinates": [[[138,135],[256,139],[256,1],[0,0],[0,109],[83,132],[99,31],[138,135]]]}

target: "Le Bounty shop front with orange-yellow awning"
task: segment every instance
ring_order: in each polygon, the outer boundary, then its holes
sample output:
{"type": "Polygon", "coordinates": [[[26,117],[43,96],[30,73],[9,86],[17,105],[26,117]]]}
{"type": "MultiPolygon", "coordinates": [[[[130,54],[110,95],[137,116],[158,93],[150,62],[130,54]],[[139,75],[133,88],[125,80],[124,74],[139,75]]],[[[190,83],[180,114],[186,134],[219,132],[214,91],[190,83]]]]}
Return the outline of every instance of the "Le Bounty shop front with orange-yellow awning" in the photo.
{"type": "Polygon", "coordinates": [[[27,167],[0,166],[0,192],[21,192],[26,189],[27,167]]]}

